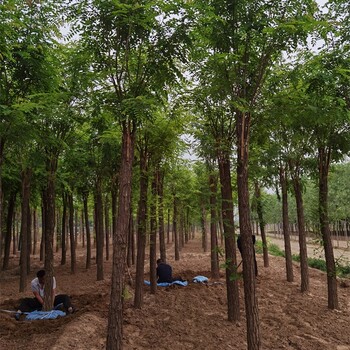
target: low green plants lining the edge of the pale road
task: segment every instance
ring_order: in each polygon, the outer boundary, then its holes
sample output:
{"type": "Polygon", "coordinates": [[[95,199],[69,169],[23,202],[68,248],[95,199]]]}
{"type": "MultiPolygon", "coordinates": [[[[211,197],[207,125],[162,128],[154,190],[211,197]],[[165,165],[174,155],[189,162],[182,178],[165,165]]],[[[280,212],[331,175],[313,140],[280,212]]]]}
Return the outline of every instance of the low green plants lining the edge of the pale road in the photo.
{"type": "MultiPolygon", "coordinates": [[[[277,244],[268,243],[268,250],[271,255],[285,257],[284,251],[277,244]]],[[[261,241],[256,242],[256,252],[258,254],[262,254],[263,252],[261,241]]],[[[294,261],[300,262],[300,255],[293,254],[292,259],[294,261]]],[[[335,263],[337,268],[337,276],[341,278],[350,278],[350,265],[344,265],[343,263],[341,263],[340,259],[336,260],[335,263]]],[[[308,258],[308,265],[314,269],[318,269],[324,272],[327,271],[326,261],[323,259],[308,258]]]]}

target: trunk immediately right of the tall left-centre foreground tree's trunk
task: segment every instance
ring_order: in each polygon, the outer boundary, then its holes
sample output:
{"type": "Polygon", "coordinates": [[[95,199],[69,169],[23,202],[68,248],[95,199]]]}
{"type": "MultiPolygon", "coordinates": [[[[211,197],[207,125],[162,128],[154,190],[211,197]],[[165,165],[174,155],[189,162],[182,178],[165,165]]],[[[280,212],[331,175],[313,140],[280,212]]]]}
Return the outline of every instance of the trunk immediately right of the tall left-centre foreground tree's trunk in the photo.
{"type": "Polygon", "coordinates": [[[143,281],[145,269],[146,227],[148,200],[148,160],[144,150],[140,150],[140,198],[137,214],[137,256],[134,307],[143,305],[143,281]]]}

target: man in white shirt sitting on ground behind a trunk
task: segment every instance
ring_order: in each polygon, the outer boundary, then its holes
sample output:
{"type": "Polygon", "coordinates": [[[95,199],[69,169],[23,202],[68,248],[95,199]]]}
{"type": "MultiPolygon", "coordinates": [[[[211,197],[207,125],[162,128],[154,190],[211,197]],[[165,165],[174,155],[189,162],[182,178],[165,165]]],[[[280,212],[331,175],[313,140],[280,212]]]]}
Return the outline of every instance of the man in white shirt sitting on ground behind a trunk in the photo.
{"type": "MultiPolygon", "coordinates": [[[[39,270],[31,282],[31,289],[34,294],[34,298],[24,298],[22,299],[18,312],[32,312],[36,310],[41,310],[44,304],[45,296],[45,270],[39,270]]],[[[55,295],[56,290],[56,279],[53,277],[52,292],[54,297],[54,307],[59,305],[63,306],[63,311],[66,313],[73,313],[74,308],[72,306],[71,300],[67,294],[55,295]]]]}

